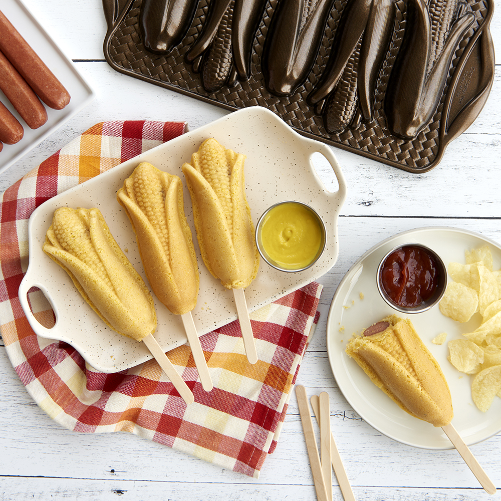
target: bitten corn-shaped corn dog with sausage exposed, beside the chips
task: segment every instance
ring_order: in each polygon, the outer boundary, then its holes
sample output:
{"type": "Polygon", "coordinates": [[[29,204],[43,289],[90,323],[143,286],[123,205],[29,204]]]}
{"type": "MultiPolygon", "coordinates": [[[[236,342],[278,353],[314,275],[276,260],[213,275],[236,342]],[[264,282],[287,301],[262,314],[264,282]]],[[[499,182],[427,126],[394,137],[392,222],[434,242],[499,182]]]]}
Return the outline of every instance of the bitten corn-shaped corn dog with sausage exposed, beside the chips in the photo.
{"type": "Polygon", "coordinates": [[[352,339],[346,353],[403,410],[433,426],[450,423],[447,381],[410,320],[396,315],[384,318],[362,337],[352,339]]]}

